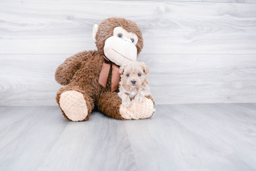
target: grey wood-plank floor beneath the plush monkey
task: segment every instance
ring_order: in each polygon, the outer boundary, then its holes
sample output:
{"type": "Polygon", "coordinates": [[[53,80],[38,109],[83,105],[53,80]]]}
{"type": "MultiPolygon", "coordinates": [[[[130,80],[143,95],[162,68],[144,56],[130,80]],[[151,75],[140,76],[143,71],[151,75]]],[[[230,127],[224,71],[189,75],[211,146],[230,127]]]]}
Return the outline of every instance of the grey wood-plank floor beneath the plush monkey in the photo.
{"type": "Polygon", "coordinates": [[[156,105],[152,118],[0,107],[0,170],[256,170],[256,104],[156,105]]]}

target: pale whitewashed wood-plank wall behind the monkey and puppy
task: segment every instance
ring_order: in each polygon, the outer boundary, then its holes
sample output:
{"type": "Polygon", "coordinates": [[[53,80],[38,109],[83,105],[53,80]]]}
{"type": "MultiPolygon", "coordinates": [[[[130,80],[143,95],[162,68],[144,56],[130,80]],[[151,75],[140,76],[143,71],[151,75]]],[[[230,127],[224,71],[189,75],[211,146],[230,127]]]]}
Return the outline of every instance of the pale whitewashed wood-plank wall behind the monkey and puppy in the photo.
{"type": "Polygon", "coordinates": [[[55,69],[113,16],[142,30],[156,104],[256,102],[256,0],[1,0],[0,106],[57,105],[55,69]]]}

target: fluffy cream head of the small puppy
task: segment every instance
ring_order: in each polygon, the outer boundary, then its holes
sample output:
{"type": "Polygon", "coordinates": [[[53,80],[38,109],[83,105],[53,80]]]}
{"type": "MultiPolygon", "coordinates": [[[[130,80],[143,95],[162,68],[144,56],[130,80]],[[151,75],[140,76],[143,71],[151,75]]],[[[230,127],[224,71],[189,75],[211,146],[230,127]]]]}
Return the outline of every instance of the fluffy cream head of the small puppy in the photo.
{"type": "Polygon", "coordinates": [[[119,69],[121,83],[127,88],[139,88],[144,82],[149,68],[144,62],[131,61],[122,65],[119,69]]]}

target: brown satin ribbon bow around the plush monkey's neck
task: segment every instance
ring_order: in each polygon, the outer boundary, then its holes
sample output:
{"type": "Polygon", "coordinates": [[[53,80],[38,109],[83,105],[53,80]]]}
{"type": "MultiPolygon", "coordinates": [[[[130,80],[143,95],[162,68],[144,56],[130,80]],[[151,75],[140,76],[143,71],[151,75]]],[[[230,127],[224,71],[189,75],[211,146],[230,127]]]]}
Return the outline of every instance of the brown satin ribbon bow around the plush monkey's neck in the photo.
{"type": "Polygon", "coordinates": [[[113,92],[116,89],[118,89],[118,83],[119,83],[119,79],[120,79],[120,74],[119,74],[120,66],[111,62],[105,55],[103,55],[103,57],[105,58],[105,60],[103,62],[102,68],[101,68],[99,83],[104,88],[106,88],[108,73],[110,70],[110,66],[112,65],[111,92],[113,92]]]}

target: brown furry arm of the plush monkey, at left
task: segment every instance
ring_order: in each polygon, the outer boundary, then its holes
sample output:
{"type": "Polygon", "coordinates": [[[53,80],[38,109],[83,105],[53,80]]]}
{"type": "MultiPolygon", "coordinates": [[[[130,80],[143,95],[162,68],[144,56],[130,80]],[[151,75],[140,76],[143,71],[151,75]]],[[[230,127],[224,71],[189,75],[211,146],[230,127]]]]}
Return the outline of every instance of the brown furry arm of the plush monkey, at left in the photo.
{"type": "Polygon", "coordinates": [[[84,59],[85,58],[82,57],[81,52],[66,58],[66,60],[56,69],[55,80],[57,83],[62,86],[69,84],[70,79],[80,68],[81,62],[84,61],[84,59]]]}

